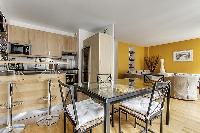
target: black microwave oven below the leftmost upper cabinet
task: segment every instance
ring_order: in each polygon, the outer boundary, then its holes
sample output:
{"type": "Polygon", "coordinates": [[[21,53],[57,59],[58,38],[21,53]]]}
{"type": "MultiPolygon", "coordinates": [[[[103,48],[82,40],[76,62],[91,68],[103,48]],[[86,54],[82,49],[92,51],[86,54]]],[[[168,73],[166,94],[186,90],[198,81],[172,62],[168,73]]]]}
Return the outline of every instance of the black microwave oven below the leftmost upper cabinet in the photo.
{"type": "Polygon", "coordinates": [[[31,46],[30,45],[19,45],[19,44],[12,43],[10,45],[10,54],[30,55],[31,54],[31,46]]]}

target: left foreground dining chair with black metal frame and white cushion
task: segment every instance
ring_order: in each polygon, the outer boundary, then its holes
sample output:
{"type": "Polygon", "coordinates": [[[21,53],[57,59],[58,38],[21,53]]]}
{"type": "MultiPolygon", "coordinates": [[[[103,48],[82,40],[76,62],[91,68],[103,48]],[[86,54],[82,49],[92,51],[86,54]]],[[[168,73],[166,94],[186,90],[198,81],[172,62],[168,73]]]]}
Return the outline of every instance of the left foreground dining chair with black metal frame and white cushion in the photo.
{"type": "Polygon", "coordinates": [[[64,109],[64,133],[66,133],[66,118],[72,123],[74,133],[87,131],[92,133],[92,128],[104,120],[103,106],[90,98],[77,102],[75,86],[64,84],[60,80],[58,82],[64,109]]]}

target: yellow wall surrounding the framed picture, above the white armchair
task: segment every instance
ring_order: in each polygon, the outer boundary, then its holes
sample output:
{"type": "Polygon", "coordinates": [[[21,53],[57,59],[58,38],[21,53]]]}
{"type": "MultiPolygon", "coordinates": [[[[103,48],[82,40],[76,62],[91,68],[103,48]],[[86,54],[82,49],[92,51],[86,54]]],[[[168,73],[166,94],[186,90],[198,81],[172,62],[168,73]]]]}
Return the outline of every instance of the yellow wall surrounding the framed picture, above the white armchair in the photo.
{"type": "MultiPolygon", "coordinates": [[[[145,48],[145,55],[147,55],[145,48]]],[[[166,72],[179,73],[200,73],[200,39],[169,43],[164,45],[152,46],[149,48],[150,55],[160,55],[165,59],[166,72]],[[192,62],[174,62],[173,52],[179,50],[193,50],[192,62]]]]}

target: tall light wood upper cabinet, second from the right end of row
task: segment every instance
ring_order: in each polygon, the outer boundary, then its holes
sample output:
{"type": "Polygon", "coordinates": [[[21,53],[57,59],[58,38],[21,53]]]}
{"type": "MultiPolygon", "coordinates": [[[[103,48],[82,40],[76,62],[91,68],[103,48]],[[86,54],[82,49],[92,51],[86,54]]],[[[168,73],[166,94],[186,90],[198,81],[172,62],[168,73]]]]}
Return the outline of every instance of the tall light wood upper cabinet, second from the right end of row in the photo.
{"type": "Polygon", "coordinates": [[[48,55],[50,57],[61,57],[61,46],[63,43],[63,37],[54,33],[47,33],[47,46],[48,55]]]}

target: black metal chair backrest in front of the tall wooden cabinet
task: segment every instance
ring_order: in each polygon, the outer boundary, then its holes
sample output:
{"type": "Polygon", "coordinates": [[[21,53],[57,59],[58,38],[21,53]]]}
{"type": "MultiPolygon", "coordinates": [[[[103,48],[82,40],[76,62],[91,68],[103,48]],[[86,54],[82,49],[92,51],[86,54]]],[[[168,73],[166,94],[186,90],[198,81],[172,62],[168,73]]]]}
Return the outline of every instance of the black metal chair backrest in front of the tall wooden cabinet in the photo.
{"type": "Polygon", "coordinates": [[[99,87],[110,87],[112,86],[111,74],[98,74],[97,83],[99,87]]]}

